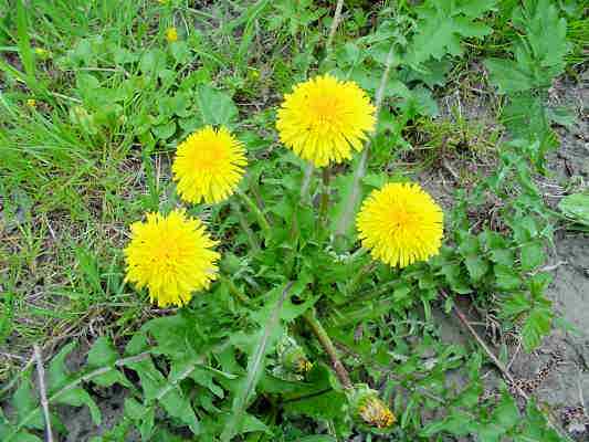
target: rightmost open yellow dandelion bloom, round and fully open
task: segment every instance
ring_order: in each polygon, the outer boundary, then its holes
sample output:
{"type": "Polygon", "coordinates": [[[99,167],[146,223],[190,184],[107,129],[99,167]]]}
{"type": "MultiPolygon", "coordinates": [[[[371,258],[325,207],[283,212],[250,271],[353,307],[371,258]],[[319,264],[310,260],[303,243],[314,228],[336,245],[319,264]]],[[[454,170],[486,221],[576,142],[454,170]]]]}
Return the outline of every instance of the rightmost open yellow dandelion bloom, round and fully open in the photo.
{"type": "Polygon", "coordinates": [[[392,266],[425,261],[442,245],[442,209],[414,183],[393,182],[374,190],[356,225],[362,246],[392,266]]]}

